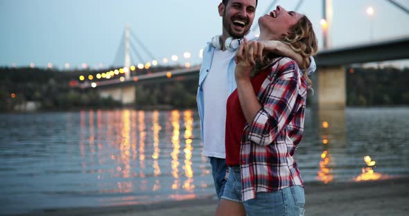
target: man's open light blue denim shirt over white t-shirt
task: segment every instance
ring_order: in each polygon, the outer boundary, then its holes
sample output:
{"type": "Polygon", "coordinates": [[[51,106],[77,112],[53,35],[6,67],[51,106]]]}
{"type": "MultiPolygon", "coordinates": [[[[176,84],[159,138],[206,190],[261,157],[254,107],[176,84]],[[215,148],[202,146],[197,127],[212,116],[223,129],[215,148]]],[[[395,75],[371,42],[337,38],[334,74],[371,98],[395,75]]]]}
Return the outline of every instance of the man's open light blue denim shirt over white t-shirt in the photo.
{"type": "MultiPolygon", "coordinates": [[[[256,35],[254,35],[252,31],[247,33],[245,37],[247,38],[247,41],[252,41],[252,40],[257,39],[256,35]]],[[[196,102],[198,103],[198,112],[199,112],[199,117],[200,117],[200,134],[202,135],[202,139],[204,138],[203,136],[204,134],[203,133],[204,97],[203,97],[202,84],[204,80],[206,79],[207,74],[210,71],[215,50],[216,48],[214,48],[214,46],[211,45],[211,42],[208,42],[206,48],[204,48],[203,50],[203,62],[202,62],[202,66],[200,67],[200,73],[199,73],[199,87],[198,87],[198,94],[196,96],[196,102]]],[[[312,56],[310,57],[310,60],[311,60],[311,63],[310,63],[310,67],[308,68],[308,75],[311,75],[312,73],[314,73],[316,69],[315,61],[312,56]]],[[[233,56],[229,62],[229,66],[227,68],[227,73],[226,73],[227,87],[229,90],[229,95],[234,91],[234,89],[237,88],[236,79],[234,78],[235,69],[236,69],[236,62],[234,62],[234,56],[233,56]]]]}

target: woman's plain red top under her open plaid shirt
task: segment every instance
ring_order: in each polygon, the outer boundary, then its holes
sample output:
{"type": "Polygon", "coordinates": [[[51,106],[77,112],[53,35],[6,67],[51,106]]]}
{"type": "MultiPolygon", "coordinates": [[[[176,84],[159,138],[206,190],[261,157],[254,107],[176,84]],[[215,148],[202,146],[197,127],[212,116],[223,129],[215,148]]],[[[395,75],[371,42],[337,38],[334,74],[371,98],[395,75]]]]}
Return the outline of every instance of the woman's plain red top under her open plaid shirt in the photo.
{"type": "MultiPolygon", "coordinates": [[[[252,78],[254,92],[259,92],[261,84],[270,73],[270,68],[258,73],[252,78]]],[[[245,127],[245,117],[238,99],[237,89],[227,98],[226,114],[226,164],[227,166],[240,165],[241,136],[245,127]]]]}

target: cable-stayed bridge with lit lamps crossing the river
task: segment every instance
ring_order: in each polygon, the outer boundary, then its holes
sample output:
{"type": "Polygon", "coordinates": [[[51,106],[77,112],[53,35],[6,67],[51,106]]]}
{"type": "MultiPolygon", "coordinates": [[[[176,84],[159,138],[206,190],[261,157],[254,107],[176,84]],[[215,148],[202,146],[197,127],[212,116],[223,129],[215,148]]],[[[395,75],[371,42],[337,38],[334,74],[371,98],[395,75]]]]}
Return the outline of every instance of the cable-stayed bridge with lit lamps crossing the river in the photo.
{"type": "MultiPolygon", "coordinates": [[[[332,15],[332,3],[331,0],[323,0],[323,2],[324,49],[315,57],[318,67],[317,73],[314,75],[314,89],[317,92],[315,98],[317,98],[317,104],[320,107],[345,107],[345,66],[355,63],[409,59],[409,37],[333,49],[331,48],[330,39],[328,39],[331,36],[332,17],[330,15],[332,15]]],[[[409,11],[396,1],[389,0],[388,2],[409,14],[409,11]]],[[[275,6],[276,3],[277,0],[273,1],[272,6],[275,6]]],[[[302,1],[299,1],[297,8],[301,3],[302,1]]],[[[183,69],[166,69],[155,73],[142,75],[133,73],[134,75],[132,75],[132,71],[149,69],[150,66],[157,66],[159,61],[155,59],[155,55],[148,51],[148,48],[143,46],[143,42],[132,33],[128,26],[125,28],[120,44],[114,65],[124,66],[114,71],[108,71],[105,74],[96,75],[96,78],[99,77],[98,81],[86,80],[84,77],[80,78],[80,87],[82,89],[96,88],[102,97],[110,96],[114,100],[123,102],[123,104],[129,104],[135,100],[136,90],[134,87],[139,83],[198,79],[200,66],[191,66],[190,64],[186,64],[183,69]],[[137,43],[130,43],[130,39],[137,43]],[[136,45],[139,46],[139,49],[136,45]],[[145,55],[142,55],[142,52],[145,55]],[[125,60],[120,57],[121,53],[125,53],[125,60]],[[147,62],[147,59],[151,62],[147,62]],[[121,62],[123,63],[121,64],[121,62]],[[139,63],[134,66],[131,62],[146,63],[139,63]]],[[[185,57],[190,55],[190,53],[184,54],[185,57]]],[[[166,61],[168,60],[163,60],[163,62],[166,61]]]]}

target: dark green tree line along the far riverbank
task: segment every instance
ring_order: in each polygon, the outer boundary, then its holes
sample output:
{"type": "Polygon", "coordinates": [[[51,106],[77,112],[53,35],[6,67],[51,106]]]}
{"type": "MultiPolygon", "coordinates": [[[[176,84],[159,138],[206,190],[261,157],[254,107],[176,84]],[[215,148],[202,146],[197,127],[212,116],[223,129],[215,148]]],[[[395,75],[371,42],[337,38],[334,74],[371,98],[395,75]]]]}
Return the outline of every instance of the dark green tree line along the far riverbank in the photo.
{"type": "MultiPolygon", "coordinates": [[[[139,74],[166,71],[157,68],[139,74]]],[[[0,68],[0,111],[13,111],[22,102],[36,102],[40,110],[112,109],[122,105],[101,98],[96,89],[71,86],[80,75],[102,71],[57,71],[52,69],[0,68]],[[71,82],[71,85],[70,85],[71,82]],[[13,95],[14,94],[14,97],[13,95]]],[[[136,73],[132,71],[132,73],[136,73]]],[[[318,72],[319,73],[319,72],[318,72]]],[[[351,68],[346,71],[348,106],[409,105],[409,69],[387,67],[351,68]]],[[[138,109],[195,109],[198,80],[151,82],[136,85],[138,109]]]]}

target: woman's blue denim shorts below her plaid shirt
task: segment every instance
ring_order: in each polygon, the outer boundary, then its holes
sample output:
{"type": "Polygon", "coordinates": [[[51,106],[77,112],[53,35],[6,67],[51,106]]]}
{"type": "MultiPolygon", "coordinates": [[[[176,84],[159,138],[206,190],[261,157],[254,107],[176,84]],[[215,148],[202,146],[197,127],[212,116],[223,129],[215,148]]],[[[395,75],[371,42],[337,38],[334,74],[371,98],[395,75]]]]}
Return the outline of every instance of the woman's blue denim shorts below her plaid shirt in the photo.
{"type": "MultiPolygon", "coordinates": [[[[230,168],[222,199],[243,203],[240,168],[230,168]]],[[[274,192],[256,192],[254,199],[244,203],[248,216],[258,215],[304,215],[304,188],[291,186],[274,192]]]]}

